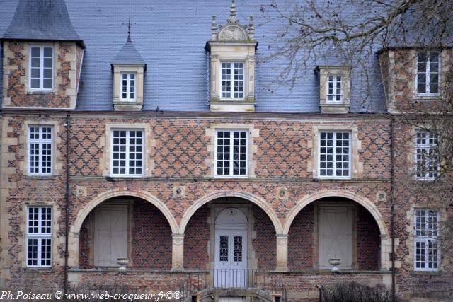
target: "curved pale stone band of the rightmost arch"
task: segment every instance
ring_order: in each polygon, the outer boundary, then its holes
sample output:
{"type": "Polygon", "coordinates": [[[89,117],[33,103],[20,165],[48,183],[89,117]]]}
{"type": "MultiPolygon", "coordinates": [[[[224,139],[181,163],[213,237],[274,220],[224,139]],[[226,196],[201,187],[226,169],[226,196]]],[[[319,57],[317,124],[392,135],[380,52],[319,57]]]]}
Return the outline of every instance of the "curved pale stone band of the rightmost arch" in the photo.
{"type": "Polygon", "coordinates": [[[377,226],[379,226],[379,231],[381,233],[382,238],[388,238],[389,233],[387,231],[387,228],[385,226],[384,219],[382,218],[381,213],[377,209],[376,205],[373,204],[369,199],[362,197],[360,195],[357,195],[353,192],[348,192],[348,191],[343,191],[343,190],[323,190],[320,192],[316,192],[313,194],[309,194],[306,197],[300,199],[296,206],[289,211],[287,214],[287,218],[285,219],[285,223],[283,224],[282,232],[283,234],[287,235],[289,232],[289,228],[291,227],[292,221],[296,218],[297,214],[299,214],[299,211],[304,209],[306,205],[310,204],[311,202],[314,202],[318,199],[324,198],[324,197],[344,197],[351,199],[354,202],[357,202],[357,204],[362,205],[362,207],[365,207],[367,211],[369,211],[370,214],[374,217],[374,221],[376,221],[377,226]]]}

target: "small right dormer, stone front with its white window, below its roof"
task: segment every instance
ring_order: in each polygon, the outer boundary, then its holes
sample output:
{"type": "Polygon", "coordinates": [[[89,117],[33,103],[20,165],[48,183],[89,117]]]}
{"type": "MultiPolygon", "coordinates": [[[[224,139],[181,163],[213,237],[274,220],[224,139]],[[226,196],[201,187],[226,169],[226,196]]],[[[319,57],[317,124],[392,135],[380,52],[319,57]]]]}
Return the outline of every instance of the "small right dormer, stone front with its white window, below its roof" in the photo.
{"type": "Polygon", "coordinates": [[[348,113],[350,66],[318,66],[319,107],[323,113],[348,113]]]}

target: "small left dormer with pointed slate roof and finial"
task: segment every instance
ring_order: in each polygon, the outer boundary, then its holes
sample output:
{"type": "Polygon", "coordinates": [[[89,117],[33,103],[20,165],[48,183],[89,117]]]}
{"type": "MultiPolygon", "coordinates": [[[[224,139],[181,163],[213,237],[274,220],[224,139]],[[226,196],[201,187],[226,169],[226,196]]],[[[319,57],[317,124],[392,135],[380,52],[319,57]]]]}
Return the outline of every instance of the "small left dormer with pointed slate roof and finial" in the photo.
{"type": "Polygon", "coordinates": [[[130,21],[126,44],[112,61],[113,107],[117,111],[138,111],[143,107],[143,74],[147,64],[132,43],[130,21]]]}

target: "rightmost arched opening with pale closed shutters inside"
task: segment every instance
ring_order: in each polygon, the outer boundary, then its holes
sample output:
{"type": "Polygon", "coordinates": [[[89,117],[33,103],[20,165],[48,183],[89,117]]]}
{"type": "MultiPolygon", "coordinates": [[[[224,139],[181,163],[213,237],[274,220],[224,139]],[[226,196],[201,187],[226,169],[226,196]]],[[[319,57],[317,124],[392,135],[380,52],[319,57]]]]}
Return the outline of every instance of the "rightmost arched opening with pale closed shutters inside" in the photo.
{"type": "Polygon", "coordinates": [[[379,270],[381,233],[361,204],[345,197],[323,197],[306,204],[288,231],[288,268],[379,270]]]}

